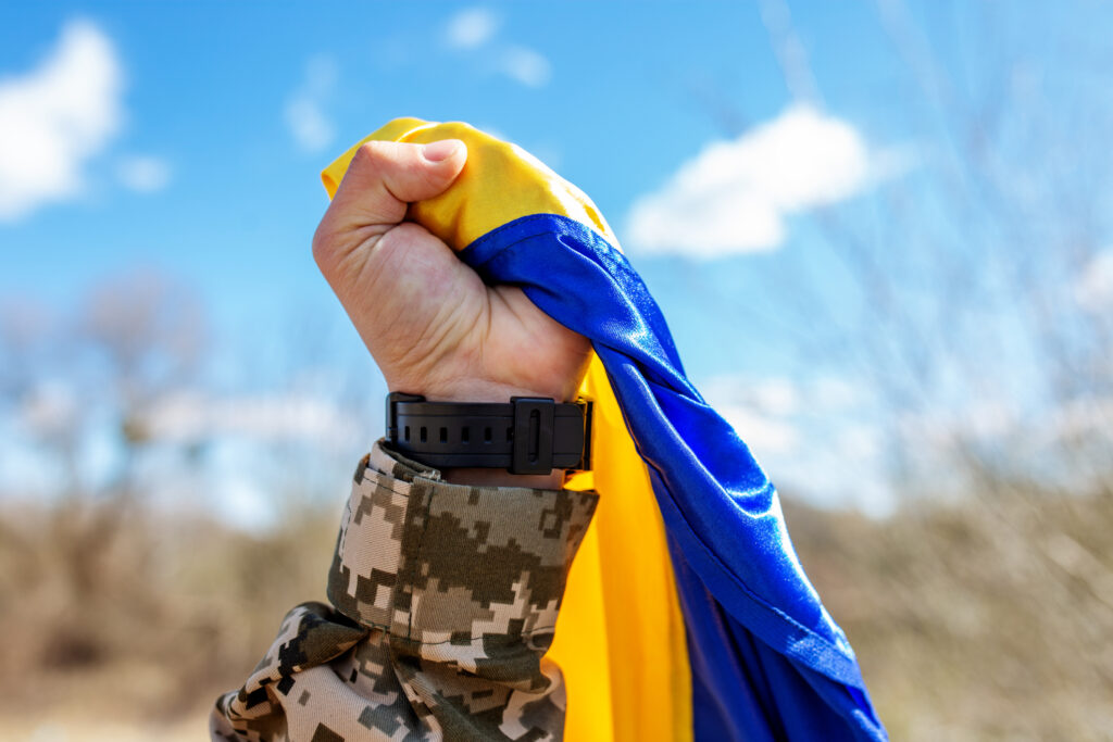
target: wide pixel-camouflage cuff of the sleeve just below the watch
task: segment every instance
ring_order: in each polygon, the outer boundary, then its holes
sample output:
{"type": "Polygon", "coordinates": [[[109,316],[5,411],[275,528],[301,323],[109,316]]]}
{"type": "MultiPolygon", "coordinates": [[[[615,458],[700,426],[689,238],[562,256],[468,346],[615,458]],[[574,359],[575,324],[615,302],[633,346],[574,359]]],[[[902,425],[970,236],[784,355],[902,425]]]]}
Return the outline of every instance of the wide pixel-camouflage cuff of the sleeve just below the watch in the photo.
{"type": "Polygon", "coordinates": [[[540,657],[597,502],[449,484],[380,441],[356,468],[328,597],[400,651],[471,672],[484,645],[524,644],[540,657]]]}

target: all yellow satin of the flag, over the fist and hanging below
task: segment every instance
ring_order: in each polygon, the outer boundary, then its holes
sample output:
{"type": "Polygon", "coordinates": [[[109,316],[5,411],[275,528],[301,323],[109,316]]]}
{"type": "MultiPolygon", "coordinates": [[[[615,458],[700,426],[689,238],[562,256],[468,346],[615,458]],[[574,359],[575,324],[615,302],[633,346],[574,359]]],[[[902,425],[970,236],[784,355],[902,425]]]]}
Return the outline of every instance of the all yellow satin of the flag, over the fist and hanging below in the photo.
{"type": "MultiPolygon", "coordinates": [[[[454,249],[531,214],[577,219],[618,246],[602,215],[579,189],[520,147],[466,123],[396,119],[325,168],[322,180],[333,196],[366,141],[441,139],[462,139],[467,164],[446,192],[411,205],[408,218],[454,249]]],[[[560,664],[568,683],[565,736],[578,742],[691,740],[683,617],[649,475],[598,358],[581,393],[595,405],[597,467],[575,475],[568,486],[593,487],[600,504],[572,565],[548,655],[560,664]]]]}

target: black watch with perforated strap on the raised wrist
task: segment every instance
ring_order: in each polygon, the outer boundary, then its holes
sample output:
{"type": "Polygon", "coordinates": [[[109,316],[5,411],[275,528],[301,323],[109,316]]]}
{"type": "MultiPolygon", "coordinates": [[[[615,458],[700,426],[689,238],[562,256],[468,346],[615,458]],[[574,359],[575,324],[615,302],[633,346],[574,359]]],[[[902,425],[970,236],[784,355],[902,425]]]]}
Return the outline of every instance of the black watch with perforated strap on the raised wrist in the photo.
{"type": "Polygon", "coordinates": [[[591,468],[591,403],[511,397],[509,403],[426,402],[386,395],[386,439],[434,468],[503,468],[549,474],[591,468]]]}

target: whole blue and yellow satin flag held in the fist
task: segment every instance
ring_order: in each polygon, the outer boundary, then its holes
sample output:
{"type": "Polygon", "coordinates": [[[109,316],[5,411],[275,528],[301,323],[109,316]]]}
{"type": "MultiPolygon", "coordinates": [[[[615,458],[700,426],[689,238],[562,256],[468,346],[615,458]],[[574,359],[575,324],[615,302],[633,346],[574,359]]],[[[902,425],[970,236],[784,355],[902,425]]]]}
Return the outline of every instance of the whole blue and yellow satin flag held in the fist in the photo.
{"type": "MultiPolygon", "coordinates": [[[[600,493],[550,651],[571,740],[885,740],[854,652],[789,541],[777,493],[688,380],[605,220],[524,150],[463,123],[398,119],[367,139],[469,148],[408,218],[489,284],[521,286],[595,352],[600,493]]],[[[366,140],[364,140],[366,141],[366,140]]],[[[332,195],[358,142],[323,174],[332,195]]]]}

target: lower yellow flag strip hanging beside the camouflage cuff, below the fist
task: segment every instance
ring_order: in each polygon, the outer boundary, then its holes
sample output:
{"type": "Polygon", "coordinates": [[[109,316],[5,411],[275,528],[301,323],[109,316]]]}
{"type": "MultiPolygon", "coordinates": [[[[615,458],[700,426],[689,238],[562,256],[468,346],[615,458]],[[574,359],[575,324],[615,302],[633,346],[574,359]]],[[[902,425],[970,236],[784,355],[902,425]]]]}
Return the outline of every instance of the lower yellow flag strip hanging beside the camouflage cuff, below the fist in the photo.
{"type": "MultiPolygon", "coordinates": [[[[556,640],[549,656],[564,669],[569,685],[569,740],[691,740],[691,677],[684,623],[664,542],[664,524],[646,465],[627,433],[607,370],[592,358],[580,389],[594,402],[592,457],[595,471],[573,477],[573,489],[593,488],[599,505],[595,531],[598,572],[578,574],[572,563],[556,640]],[[580,614],[602,614],[607,635],[597,646],[572,625],[580,614]],[[605,652],[610,677],[612,736],[598,733],[594,709],[580,715],[573,703],[582,677],[598,672],[605,652]],[[597,654],[600,653],[600,654],[597,654]]],[[[589,531],[589,535],[590,535],[589,531]]],[[[582,548],[582,547],[581,547],[582,548]]],[[[594,701],[594,699],[592,699],[594,701]]],[[[597,704],[598,705],[598,704],[597,704]]]]}

